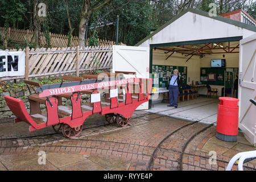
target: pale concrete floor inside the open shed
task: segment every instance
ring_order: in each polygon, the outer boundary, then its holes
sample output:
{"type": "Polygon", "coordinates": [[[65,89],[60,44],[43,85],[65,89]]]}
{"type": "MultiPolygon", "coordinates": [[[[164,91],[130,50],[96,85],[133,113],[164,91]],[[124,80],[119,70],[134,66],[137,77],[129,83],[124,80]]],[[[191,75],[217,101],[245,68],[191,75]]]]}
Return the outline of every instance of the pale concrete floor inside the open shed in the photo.
{"type": "Polygon", "coordinates": [[[152,104],[152,109],[148,110],[148,112],[168,115],[170,117],[188,121],[199,121],[201,123],[211,124],[217,122],[219,103],[220,100],[218,100],[218,98],[200,96],[194,100],[180,102],[176,109],[174,107],[167,107],[168,103],[152,104]]]}

